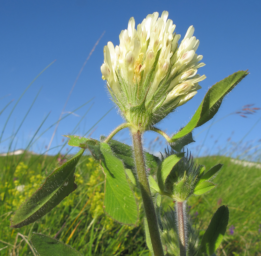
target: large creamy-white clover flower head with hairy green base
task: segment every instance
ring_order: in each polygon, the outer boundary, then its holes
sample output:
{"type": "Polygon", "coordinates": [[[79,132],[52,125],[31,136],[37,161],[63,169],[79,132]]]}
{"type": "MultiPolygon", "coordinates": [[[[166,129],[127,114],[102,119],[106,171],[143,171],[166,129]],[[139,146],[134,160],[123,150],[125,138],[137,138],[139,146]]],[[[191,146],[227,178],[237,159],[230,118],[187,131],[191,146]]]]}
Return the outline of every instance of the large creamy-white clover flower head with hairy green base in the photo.
{"type": "Polygon", "coordinates": [[[185,104],[201,87],[205,75],[197,75],[204,66],[195,52],[199,40],[190,26],[178,46],[180,35],[164,11],[149,14],[135,29],[132,17],[128,29],[120,33],[120,44],[104,47],[102,78],[107,81],[113,101],[126,120],[146,130],[177,106],[185,104]]]}

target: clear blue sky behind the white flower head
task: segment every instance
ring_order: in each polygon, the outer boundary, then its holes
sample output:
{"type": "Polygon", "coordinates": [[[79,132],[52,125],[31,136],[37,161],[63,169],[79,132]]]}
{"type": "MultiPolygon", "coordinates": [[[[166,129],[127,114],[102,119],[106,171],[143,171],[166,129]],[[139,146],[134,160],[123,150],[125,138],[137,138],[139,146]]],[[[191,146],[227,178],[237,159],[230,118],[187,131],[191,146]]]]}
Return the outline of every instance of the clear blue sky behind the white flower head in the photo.
{"type": "MultiPolygon", "coordinates": [[[[104,36],[76,83],[65,112],[71,112],[94,99],[76,111],[75,115],[61,121],[51,147],[62,143],[61,135],[73,131],[92,103],[91,110],[75,134],[84,135],[91,129],[91,137],[98,139],[101,134],[108,135],[122,123],[122,118],[114,108],[94,125],[114,106],[101,78],[103,47],[108,41],[114,45],[119,43],[118,35],[121,30],[127,29],[128,20],[132,16],[137,25],[147,14],[157,11],[161,15],[163,10],[169,12],[169,18],[176,24],[176,33],[181,34],[181,38],[190,25],[195,27],[194,36],[200,40],[197,54],[203,55],[206,64],[198,73],[205,74],[207,78],[200,83],[202,89],[198,94],[160,123],[159,128],[169,134],[176,132],[190,120],[207,89],[238,70],[248,69],[250,74],[225,98],[215,121],[247,104],[261,107],[260,1],[249,1],[246,5],[245,1],[3,0],[0,2],[0,99],[7,96],[0,100],[0,111],[9,101],[14,101],[0,116],[0,132],[25,88],[41,70],[56,61],[32,84],[17,104],[3,133],[0,152],[8,150],[8,138],[19,127],[40,88],[39,96],[17,133],[12,149],[25,148],[50,111],[39,134],[58,120],[84,61],[104,31],[104,36]]],[[[251,142],[253,146],[258,146],[258,140],[261,139],[261,121],[257,122],[259,118],[261,111],[247,118],[233,114],[201,132],[211,124],[210,121],[194,131],[196,143],[191,145],[194,155],[217,153],[222,147],[231,145],[231,141],[239,142],[242,139],[242,143],[251,142]],[[250,129],[250,133],[245,136],[250,129]],[[227,142],[230,137],[231,141],[227,142]],[[204,146],[199,152],[203,142],[204,146]]],[[[32,150],[43,152],[53,131],[54,127],[44,133],[32,150]]],[[[116,138],[128,142],[128,136],[128,130],[125,130],[116,138]]],[[[157,136],[152,132],[146,134],[145,145],[149,147],[149,142],[157,136]]]]}

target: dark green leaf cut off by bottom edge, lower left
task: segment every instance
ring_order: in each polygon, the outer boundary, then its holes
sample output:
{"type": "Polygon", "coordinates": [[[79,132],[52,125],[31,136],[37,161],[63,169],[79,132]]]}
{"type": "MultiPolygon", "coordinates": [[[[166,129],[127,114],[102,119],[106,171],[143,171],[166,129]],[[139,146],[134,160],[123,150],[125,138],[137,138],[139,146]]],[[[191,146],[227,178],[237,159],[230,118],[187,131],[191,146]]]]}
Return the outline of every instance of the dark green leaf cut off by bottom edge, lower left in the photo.
{"type": "Polygon", "coordinates": [[[81,256],[79,252],[57,239],[34,233],[31,243],[40,256],[81,256]]]}

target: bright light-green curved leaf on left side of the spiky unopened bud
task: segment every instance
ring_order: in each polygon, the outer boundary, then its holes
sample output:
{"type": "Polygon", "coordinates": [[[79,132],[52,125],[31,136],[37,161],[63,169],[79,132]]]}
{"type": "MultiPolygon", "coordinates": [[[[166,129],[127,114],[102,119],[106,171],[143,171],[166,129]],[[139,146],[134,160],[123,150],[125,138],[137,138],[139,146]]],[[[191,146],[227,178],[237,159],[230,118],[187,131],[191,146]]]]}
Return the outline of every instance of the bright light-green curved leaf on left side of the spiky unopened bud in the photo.
{"type": "Polygon", "coordinates": [[[185,153],[183,152],[175,155],[170,155],[161,162],[161,165],[159,166],[157,171],[158,185],[161,190],[164,191],[164,185],[168,175],[170,174],[173,166],[175,166],[175,164],[179,162],[184,154],[185,153]]]}

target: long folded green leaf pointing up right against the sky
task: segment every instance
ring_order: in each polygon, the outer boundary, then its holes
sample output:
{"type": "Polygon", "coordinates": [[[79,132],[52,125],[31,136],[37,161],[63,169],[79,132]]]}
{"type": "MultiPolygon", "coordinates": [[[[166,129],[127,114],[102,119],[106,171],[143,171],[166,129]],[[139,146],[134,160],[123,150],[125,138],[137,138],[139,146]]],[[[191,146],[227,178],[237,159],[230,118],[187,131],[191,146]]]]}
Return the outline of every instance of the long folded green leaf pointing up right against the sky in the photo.
{"type": "Polygon", "coordinates": [[[206,93],[203,101],[192,116],[188,124],[171,139],[182,138],[190,133],[195,127],[209,121],[218,111],[224,96],[226,96],[246,75],[247,71],[238,71],[214,84],[206,93]]]}

